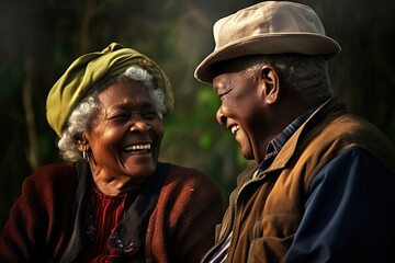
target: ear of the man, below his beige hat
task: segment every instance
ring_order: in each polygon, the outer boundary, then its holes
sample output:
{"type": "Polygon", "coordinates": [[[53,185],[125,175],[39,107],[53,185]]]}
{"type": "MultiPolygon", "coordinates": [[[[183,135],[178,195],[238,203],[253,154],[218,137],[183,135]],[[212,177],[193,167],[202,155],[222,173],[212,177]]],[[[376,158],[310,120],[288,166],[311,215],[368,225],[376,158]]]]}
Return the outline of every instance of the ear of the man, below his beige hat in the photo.
{"type": "Polygon", "coordinates": [[[268,104],[275,103],[280,98],[280,70],[274,65],[266,64],[261,68],[260,77],[264,84],[264,101],[268,104]]]}

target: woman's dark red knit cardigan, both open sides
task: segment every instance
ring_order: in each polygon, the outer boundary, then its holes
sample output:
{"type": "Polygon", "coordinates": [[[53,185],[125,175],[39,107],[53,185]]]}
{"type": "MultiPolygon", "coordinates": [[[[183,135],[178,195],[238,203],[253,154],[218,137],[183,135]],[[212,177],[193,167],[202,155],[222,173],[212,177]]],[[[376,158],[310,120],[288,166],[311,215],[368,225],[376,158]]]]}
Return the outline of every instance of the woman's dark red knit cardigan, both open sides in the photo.
{"type": "MultiPolygon", "coordinates": [[[[56,262],[70,238],[77,188],[71,163],[48,164],[23,183],[0,236],[0,262],[56,262]]],[[[171,165],[148,222],[147,262],[199,262],[224,209],[219,190],[196,170],[171,165]]]]}

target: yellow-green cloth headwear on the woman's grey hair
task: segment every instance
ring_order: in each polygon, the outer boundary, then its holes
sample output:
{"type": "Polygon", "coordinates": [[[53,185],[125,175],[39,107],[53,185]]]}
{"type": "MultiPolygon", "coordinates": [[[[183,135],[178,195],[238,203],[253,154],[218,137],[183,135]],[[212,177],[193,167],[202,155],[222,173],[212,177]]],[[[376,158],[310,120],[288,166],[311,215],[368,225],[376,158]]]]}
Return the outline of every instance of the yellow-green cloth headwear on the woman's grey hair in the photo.
{"type": "Polygon", "coordinates": [[[61,137],[63,129],[72,110],[98,82],[139,66],[154,76],[154,82],[166,95],[166,112],[172,110],[171,84],[165,72],[151,59],[138,52],[112,43],[102,52],[90,53],[77,58],[50,89],[46,101],[46,117],[50,127],[61,137]]]}

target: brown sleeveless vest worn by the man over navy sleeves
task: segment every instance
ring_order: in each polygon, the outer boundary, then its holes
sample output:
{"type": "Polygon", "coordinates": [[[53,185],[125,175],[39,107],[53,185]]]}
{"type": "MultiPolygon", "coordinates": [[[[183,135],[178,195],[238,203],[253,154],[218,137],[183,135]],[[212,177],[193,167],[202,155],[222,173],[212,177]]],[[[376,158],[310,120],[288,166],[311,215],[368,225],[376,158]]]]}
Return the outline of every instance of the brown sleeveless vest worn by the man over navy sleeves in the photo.
{"type": "Polygon", "coordinates": [[[216,229],[216,247],[233,231],[226,262],[283,262],[304,216],[315,174],[335,157],[359,147],[395,172],[391,141],[368,122],[347,113],[331,99],[283,146],[272,164],[253,176],[252,164],[239,176],[229,207],[216,229]]]}

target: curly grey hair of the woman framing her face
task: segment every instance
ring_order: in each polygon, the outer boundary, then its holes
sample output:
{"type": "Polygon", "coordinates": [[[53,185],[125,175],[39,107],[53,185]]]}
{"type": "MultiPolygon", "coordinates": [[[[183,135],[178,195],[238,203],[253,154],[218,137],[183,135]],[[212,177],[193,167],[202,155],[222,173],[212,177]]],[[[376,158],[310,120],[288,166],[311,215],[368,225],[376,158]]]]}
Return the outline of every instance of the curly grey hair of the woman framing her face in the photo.
{"type": "Polygon", "coordinates": [[[82,153],[77,149],[74,138],[88,129],[92,117],[99,110],[99,93],[115,82],[125,82],[128,80],[140,81],[144,87],[146,87],[148,95],[155,102],[158,114],[160,118],[162,118],[163,113],[166,112],[166,98],[163,91],[154,84],[153,79],[154,77],[148,73],[147,70],[138,66],[132,66],[127,68],[124,73],[105,80],[94,87],[92,89],[93,92],[76,106],[67,121],[61,138],[57,142],[60,157],[65,161],[79,161],[82,159],[82,153]]]}

